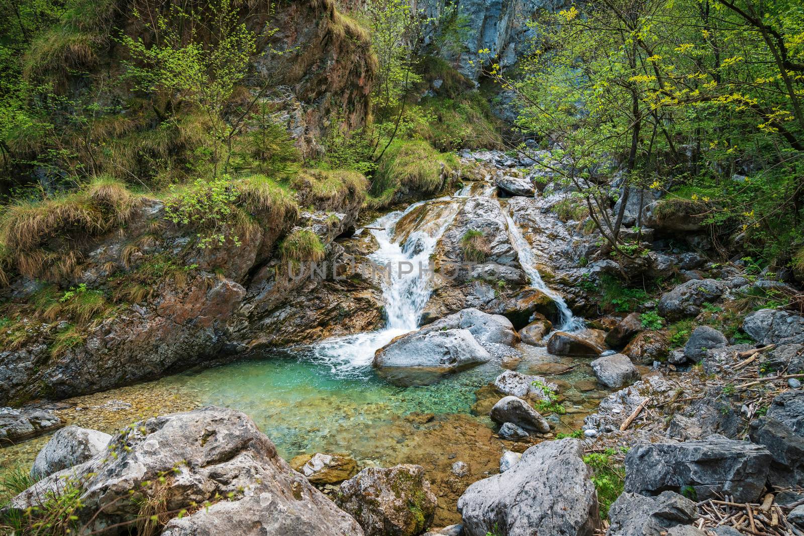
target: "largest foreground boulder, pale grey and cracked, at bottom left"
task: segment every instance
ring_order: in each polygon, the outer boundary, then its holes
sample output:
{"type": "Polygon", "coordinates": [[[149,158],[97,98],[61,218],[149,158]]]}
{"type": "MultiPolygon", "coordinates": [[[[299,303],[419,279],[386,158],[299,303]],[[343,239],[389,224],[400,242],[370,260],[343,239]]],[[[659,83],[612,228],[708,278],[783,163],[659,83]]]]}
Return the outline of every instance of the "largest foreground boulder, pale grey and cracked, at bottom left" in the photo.
{"type": "Polygon", "coordinates": [[[169,512],[193,510],[171,519],[162,532],[167,536],[363,534],[240,411],[205,407],[154,417],[114,436],[109,452],[45,477],[10,508],[41,506],[69,477],[84,505],[77,522],[88,530],[129,522],[141,515],[144,501],[158,500],[169,512]]]}

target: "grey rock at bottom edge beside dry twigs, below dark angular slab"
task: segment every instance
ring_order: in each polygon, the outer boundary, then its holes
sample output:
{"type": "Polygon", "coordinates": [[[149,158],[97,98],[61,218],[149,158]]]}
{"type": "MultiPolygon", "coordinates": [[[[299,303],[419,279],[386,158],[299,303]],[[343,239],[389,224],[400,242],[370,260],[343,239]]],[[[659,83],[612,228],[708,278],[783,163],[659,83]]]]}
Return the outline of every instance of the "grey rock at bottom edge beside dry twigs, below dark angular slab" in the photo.
{"type": "Polygon", "coordinates": [[[609,536],[660,536],[698,519],[694,501],[672,491],[658,497],[622,493],[609,508],[609,536]]]}

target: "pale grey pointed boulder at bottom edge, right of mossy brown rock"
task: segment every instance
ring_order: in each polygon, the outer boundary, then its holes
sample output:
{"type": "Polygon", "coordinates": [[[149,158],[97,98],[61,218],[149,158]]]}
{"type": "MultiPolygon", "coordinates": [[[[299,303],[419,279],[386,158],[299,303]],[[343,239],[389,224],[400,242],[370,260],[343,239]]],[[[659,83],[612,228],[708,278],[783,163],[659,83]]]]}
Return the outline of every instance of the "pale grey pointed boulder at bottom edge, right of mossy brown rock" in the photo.
{"type": "Polygon", "coordinates": [[[457,501],[466,536],[592,536],[600,523],[597,493],[580,441],[528,448],[500,475],[475,482],[457,501]]]}

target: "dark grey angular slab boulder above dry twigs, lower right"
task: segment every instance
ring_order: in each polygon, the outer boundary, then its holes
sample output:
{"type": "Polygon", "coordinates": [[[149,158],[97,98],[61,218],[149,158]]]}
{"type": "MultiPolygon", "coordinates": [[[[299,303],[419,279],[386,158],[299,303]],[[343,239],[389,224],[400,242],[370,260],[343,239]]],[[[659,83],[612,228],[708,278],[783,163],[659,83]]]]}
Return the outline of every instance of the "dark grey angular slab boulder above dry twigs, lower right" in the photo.
{"type": "Polygon", "coordinates": [[[626,455],[626,491],[655,495],[693,489],[699,500],[728,493],[736,502],[754,502],[768,477],[768,449],[750,441],[709,436],[685,443],[637,445],[626,455]]]}

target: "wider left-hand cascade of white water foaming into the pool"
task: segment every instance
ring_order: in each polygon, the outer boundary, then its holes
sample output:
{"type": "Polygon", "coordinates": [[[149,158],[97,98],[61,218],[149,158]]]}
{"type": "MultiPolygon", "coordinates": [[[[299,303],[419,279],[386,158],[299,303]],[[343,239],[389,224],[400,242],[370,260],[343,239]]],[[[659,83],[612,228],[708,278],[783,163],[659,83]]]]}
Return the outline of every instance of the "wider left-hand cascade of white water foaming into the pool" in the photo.
{"type": "MultiPolygon", "coordinates": [[[[445,200],[449,198],[435,201],[445,200]]],[[[383,283],[387,321],[378,331],[330,338],[315,345],[314,358],[330,366],[334,374],[359,374],[371,366],[376,350],[393,338],[418,329],[419,317],[433,289],[432,273],[428,268],[430,255],[457,212],[453,211],[451,217],[444,218],[432,234],[413,231],[404,242],[395,242],[396,223],[424,203],[432,202],[414,203],[404,211],[384,215],[369,226],[378,227],[372,229],[371,234],[379,243],[379,248],[369,258],[390,272],[383,283]]]]}

